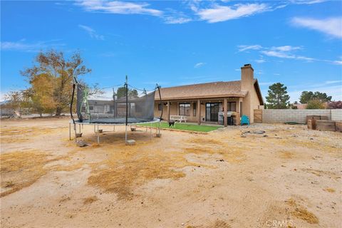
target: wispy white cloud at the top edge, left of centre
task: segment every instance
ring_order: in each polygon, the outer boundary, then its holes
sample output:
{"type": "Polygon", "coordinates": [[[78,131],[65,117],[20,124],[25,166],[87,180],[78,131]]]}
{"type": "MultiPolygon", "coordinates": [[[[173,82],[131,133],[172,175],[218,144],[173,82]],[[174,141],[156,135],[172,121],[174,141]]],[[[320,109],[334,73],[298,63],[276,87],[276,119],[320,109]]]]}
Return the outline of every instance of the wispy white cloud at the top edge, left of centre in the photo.
{"type": "Polygon", "coordinates": [[[148,14],[152,16],[162,15],[162,11],[150,9],[150,4],[143,2],[128,1],[78,1],[77,5],[82,6],[86,11],[98,11],[109,14],[148,14]]]}

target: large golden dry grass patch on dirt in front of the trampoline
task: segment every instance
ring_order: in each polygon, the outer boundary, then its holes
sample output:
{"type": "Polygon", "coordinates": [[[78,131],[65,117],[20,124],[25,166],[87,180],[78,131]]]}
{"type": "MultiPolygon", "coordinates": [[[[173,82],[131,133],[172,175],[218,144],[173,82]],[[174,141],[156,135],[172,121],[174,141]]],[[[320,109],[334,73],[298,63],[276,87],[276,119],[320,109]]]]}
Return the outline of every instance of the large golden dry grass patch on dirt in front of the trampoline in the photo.
{"type": "Polygon", "coordinates": [[[145,147],[123,146],[120,150],[108,155],[108,160],[93,164],[92,175],[88,184],[102,188],[105,192],[115,192],[118,199],[133,199],[133,188],[153,179],[174,179],[185,177],[179,169],[198,164],[188,162],[182,153],[151,152],[145,147]],[[96,167],[106,165],[107,169],[99,170],[96,167]]]}

